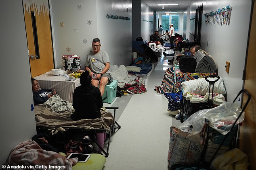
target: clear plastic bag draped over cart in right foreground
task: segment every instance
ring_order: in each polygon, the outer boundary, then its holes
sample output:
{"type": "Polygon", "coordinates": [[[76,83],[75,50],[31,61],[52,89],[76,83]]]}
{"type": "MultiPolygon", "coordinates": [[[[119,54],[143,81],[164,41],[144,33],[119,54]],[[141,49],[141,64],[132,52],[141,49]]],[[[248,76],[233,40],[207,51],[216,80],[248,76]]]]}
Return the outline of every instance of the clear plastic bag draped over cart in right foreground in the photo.
{"type": "MultiPolygon", "coordinates": [[[[235,123],[235,120],[241,113],[241,108],[233,102],[224,102],[218,107],[212,109],[204,109],[191,115],[186,121],[184,121],[179,128],[186,128],[193,125],[191,135],[199,133],[204,126],[205,120],[209,120],[209,125],[222,135],[226,135],[235,123]]],[[[237,124],[244,120],[244,112],[239,117],[237,124]]]]}

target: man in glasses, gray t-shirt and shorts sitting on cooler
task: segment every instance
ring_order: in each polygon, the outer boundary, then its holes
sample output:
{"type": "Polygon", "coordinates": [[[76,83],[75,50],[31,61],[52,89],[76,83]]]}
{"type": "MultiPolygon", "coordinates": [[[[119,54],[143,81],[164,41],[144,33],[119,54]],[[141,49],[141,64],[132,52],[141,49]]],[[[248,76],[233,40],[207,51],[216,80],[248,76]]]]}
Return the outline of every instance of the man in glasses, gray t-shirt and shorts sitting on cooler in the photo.
{"type": "Polygon", "coordinates": [[[85,61],[85,70],[88,70],[92,77],[92,85],[99,87],[101,96],[105,91],[105,86],[111,82],[111,75],[109,72],[109,55],[106,51],[100,50],[101,41],[98,38],[92,40],[92,49],[85,61]]]}

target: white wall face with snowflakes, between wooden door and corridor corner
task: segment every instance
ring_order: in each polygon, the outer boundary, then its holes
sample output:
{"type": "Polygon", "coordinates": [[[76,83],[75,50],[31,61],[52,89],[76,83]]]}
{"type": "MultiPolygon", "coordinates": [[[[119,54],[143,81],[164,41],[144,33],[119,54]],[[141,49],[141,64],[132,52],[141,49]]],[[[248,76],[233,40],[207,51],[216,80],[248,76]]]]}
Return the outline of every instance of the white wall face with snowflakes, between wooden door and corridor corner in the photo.
{"type": "Polygon", "coordinates": [[[55,39],[55,67],[62,68],[62,56],[76,54],[81,57],[84,69],[85,57],[91,51],[92,39],[98,37],[96,1],[52,0],[52,30],[55,39]],[[78,10],[81,6],[81,10],[78,10]],[[91,21],[91,24],[88,24],[91,21]],[[63,23],[63,27],[60,26],[63,23]],[[75,30],[76,29],[76,30],[75,30]],[[83,41],[87,40],[87,43],[83,41]],[[70,48],[70,52],[67,48],[70,48]]]}

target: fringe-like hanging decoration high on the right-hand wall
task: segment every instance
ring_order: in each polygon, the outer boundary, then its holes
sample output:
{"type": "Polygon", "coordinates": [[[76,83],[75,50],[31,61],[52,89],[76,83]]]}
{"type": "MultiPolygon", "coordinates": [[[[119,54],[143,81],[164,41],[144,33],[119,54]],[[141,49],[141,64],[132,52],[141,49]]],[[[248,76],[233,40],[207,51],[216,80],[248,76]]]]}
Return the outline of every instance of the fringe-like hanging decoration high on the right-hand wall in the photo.
{"type": "Polygon", "coordinates": [[[214,25],[214,24],[219,24],[219,25],[229,25],[230,23],[230,16],[231,16],[231,6],[225,6],[222,9],[217,9],[215,11],[209,12],[204,14],[206,17],[205,23],[214,25]]]}

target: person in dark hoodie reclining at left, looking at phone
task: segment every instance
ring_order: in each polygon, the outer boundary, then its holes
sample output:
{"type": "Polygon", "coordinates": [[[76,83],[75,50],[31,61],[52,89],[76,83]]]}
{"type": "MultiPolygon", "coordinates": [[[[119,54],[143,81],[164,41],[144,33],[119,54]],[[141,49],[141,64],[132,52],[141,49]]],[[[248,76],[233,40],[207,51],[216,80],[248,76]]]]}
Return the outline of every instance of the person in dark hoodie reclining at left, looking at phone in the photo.
{"type": "Polygon", "coordinates": [[[55,89],[48,90],[48,89],[40,88],[38,81],[34,78],[31,78],[31,83],[32,83],[32,91],[33,91],[33,100],[35,105],[46,102],[48,98],[56,94],[55,89]]]}

